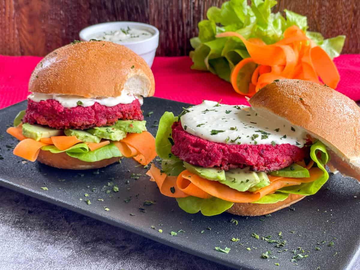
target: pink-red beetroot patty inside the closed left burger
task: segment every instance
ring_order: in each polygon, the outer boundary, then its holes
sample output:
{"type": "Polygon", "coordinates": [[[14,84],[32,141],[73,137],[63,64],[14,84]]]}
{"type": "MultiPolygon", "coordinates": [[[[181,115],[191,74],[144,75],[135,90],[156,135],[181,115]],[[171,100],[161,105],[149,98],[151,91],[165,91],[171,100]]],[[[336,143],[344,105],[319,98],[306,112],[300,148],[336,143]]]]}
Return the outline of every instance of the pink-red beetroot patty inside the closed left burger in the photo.
{"type": "Polygon", "coordinates": [[[111,126],[118,119],[144,120],[138,99],[130,104],[106,107],[95,102],[89,107],[64,108],[57,100],[34,102],[28,99],[24,123],[48,125],[55,129],[89,129],[111,126]]]}

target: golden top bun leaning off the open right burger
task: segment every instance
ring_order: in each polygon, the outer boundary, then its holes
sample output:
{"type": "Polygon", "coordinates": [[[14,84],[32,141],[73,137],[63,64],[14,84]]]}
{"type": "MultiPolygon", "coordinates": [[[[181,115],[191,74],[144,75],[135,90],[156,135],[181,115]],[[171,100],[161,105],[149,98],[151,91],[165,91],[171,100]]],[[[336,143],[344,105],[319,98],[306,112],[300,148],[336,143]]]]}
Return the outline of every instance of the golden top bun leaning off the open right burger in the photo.
{"type": "Polygon", "coordinates": [[[360,108],[330,87],[302,80],[280,80],[249,100],[265,117],[282,117],[319,139],[333,155],[329,166],[360,181],[360,108]]]}

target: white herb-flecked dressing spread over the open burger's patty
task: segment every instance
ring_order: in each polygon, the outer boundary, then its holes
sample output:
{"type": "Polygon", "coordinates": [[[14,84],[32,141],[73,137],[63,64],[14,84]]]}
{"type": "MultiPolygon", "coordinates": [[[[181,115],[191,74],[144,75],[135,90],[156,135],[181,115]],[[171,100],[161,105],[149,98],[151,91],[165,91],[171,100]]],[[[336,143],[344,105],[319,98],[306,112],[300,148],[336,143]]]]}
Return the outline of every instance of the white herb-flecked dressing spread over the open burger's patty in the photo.
{"type": "Polygon", "coordinates": [[[303,147],[306,134],[283,119],[266,119],[252,107],[204,100],[181,116],[186,132],[216,143],[291,144],[303,147]]]}

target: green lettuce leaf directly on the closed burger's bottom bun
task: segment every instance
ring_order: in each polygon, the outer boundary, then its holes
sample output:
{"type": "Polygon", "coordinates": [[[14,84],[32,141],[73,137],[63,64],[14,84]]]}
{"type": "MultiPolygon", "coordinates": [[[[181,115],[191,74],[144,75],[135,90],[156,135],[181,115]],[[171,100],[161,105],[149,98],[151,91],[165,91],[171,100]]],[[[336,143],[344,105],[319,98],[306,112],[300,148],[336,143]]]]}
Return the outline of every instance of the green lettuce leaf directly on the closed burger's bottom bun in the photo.
{"type": "Polygon", "coordinates": [[[70,157],[78,158],[86,162],[95,162],[112,157],[122,157],[120,150],[113,143],[100,147],[94,151],[89,151],[87,153],[75,153],[70,151],[67,151],[66,153],[70,157]]]}

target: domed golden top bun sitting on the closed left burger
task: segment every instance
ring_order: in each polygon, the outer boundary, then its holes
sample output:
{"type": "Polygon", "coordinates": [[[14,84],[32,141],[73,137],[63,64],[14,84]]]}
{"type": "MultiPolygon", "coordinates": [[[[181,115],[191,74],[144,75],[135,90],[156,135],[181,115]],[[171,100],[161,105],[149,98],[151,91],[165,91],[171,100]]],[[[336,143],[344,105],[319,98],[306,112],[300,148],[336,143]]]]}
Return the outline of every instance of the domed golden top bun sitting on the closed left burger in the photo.
{"type": "Polygon", "coordinates": [[[29,91],[86,98],[152,96],[154,75],[143,58],[108,41],[84,41],[54,50],[31,74],[29,91]]]}

